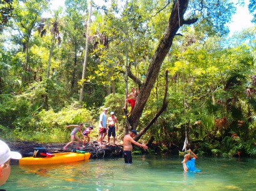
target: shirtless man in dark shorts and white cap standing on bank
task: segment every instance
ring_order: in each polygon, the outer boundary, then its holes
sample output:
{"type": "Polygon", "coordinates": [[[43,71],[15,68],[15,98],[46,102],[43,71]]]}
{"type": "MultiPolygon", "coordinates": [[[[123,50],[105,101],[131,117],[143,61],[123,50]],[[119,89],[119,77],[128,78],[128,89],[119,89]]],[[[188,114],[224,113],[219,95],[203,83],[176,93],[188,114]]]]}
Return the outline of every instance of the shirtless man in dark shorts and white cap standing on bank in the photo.
{"type": "Polygon", "coordinates": [[[114,112],[110,112],[110,117],[108,117],[108,120],[106,124],[108,124],[108,145],[110,145],[110,137],[111,134],[113,136],[113,147],[115,147],[116,142],[116,131],[118,130],[118,120],[117,117],[114,115],[114,112]]]}

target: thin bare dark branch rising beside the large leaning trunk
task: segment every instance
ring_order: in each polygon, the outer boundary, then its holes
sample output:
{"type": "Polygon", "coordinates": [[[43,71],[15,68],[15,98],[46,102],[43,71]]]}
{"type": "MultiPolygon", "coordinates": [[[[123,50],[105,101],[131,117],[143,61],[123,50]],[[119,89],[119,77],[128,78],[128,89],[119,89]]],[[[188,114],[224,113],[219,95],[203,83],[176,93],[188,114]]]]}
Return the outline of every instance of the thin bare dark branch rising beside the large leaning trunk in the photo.
{"type": "Polygon", "coordinates": [[[163,111],[167,108],[169,101],[166,100],[168,94],[168,71],[165,71],[165,97],[163,98],[163,105],[161,106],[161,109],[158,110],[158,112],[155,114],[155,117],[144,127],[140,133],[135,137],[135,141],[138,141],[142,135],[146,133],[148,129],[150,129],[151,125],[158,119],[158,117],[163,113],[163,111]]]}

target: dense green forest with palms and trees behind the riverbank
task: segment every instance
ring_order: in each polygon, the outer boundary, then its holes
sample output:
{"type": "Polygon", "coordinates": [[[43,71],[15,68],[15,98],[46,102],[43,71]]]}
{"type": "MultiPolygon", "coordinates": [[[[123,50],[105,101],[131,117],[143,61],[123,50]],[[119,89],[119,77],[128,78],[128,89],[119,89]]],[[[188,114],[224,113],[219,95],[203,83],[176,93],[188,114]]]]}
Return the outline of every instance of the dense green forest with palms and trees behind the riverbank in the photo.
{"type": "Polygon", "coordinates": [[[1,0],[1,139],[66,142],[108,107],[153,152],[256,155],[256,27],[227,27],[242,0],[64,2],[1,0]]]}

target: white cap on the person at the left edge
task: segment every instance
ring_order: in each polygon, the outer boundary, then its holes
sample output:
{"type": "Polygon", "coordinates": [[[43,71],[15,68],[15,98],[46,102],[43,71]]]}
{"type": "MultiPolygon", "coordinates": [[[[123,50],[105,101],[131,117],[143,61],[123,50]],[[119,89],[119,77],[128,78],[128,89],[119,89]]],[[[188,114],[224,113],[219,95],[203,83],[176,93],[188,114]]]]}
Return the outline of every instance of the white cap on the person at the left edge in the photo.
{"type": "Polygon", "coordinates": [[[18,152],[13,152],[9,149],[5,142],[0,140],[0,165],[7,162],[9,159],[21,159],[22,156],[18,152]]]}

